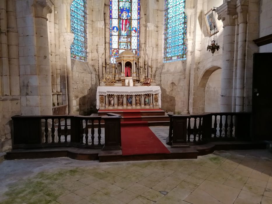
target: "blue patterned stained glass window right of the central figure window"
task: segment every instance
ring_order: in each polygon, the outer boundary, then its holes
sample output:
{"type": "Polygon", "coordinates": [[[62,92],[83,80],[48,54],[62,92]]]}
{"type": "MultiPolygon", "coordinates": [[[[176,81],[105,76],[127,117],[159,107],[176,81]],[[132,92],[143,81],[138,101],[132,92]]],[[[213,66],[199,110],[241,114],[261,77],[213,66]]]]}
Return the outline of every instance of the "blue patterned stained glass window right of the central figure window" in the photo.
{"type": "Polygon", "coordinates": [[[186,59],[185,0],[165,0],[164,62],[186,59]]]}

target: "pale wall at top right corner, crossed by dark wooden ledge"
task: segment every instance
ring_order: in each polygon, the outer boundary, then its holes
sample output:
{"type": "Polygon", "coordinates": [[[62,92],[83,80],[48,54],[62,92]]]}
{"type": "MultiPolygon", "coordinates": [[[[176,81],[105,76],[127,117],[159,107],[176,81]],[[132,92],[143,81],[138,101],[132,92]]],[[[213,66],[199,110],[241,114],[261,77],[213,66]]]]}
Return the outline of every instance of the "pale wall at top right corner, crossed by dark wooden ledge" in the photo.
{"type": "MultiPolygon", "coordinates": [[[[272,34],[272,1],[260,1],[259,37],[272,34]]],[[[259,47],[259,52],[272,52],[272,43],[259,47]]]]}

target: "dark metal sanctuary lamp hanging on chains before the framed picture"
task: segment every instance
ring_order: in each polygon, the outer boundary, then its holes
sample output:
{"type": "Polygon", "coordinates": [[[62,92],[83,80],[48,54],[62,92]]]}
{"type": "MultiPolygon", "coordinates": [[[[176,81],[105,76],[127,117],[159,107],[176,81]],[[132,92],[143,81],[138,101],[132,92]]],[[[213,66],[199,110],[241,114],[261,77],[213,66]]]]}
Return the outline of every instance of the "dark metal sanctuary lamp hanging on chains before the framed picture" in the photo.
{"type": "Polygon", "coordinates": [[[209,52],[213,53],[215,52],[215,50],[219,50],[219,45],[217,45],[217,26],[216,26],[216,20],[215,20],[215,8],[217,7],[213,7],[212,13],[211,13],[211,19],[210,19],[210,23],[209,23],[209,27],[210,27],[210,36],[209,36],[209,42],[211,42],[210,45],[208,45],[207,50],[209,50],[209,52]],[[213,35],[213,39],[212,36],[213,35]]]}

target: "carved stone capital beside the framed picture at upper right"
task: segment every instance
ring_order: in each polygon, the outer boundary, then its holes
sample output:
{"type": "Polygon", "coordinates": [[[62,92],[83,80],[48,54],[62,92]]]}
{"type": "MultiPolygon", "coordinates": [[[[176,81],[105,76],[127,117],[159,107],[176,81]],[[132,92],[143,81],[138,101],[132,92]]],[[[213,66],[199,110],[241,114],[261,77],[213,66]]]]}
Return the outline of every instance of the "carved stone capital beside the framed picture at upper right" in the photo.
{"type": "Polygon", "coordinates": [[[218,20],[222,20],[223,28],[235,25],[236,1],[227,0],[216,9],[218,20]]]}

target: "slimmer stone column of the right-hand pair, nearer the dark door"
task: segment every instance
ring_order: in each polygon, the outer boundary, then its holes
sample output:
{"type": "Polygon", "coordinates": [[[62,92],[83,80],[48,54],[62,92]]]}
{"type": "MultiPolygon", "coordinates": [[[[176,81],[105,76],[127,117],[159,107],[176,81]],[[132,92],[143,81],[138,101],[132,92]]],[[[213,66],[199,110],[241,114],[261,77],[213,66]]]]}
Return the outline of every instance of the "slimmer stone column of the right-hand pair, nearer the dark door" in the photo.
{"type": "Polygon", "coordinates": [[[237,84],[236,84],[236,112],[244,111],[244,75],[245,75],[245,47],[247,34],[248,1],[239,1],[238,12],[238,54],[237,54],[237,84]],[[242,3],[247,4],[242,4],[242,3]]]}

